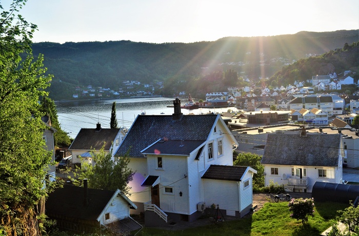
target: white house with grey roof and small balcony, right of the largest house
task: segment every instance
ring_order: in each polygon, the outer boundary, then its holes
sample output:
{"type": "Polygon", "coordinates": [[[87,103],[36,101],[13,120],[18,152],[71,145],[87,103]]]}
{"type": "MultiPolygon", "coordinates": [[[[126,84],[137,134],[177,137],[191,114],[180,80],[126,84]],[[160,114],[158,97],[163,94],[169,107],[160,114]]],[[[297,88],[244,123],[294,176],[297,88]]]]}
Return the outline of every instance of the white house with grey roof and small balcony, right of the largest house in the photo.
{"type": "Polygon", "coordinates": [[[288,191],[311,192],[316,181],[342,183],[345,158],[341,134],[269,133],[262,158],[265,186],[284,184],[288,191]]]}

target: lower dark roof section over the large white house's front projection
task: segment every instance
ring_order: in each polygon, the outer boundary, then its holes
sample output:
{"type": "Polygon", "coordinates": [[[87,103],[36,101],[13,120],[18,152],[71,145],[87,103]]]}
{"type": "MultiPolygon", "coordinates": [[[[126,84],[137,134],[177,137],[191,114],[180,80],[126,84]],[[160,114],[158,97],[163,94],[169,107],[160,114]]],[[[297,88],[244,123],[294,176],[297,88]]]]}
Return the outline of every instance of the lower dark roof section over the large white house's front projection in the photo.
{"type": "Polygon", "coordinates": [[[190,155],[193,150],[201,146],[204,142],[206,142],[206,140],[159,140],[142,153],[158,155],[190,155]]]}

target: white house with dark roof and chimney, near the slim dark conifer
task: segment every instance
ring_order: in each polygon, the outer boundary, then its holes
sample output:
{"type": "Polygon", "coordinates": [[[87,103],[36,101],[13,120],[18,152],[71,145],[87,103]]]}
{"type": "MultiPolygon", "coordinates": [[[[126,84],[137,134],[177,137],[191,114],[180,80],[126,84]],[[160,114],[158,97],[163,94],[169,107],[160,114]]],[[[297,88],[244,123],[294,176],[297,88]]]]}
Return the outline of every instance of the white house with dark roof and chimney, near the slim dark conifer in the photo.
{"type": "Polygon", "coordinates": [[[69,151],[72,153],[72,162],[74,164],[81,163],[82,158],[84,161],[94,164],[91,151],[96,152],[104,147],[106,153],[112,149],[115,153],[125,135],[122,128],[105,129],[101,128],[99,123],[96,124],[95,129],[82,128],[69,147],[69,151]]]}

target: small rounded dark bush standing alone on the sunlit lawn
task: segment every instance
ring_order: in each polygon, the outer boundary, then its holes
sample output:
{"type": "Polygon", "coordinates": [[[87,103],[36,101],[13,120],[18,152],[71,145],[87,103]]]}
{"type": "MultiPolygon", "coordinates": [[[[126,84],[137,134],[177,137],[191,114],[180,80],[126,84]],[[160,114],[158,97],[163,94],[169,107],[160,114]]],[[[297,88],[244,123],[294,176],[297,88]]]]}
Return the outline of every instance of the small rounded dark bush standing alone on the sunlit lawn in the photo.
{"type": "Polygon", "coordinates": [[[292,212],[290,214],[291,218],[297,219],[298,221],[302,221],[304,224],[308,221],[308,216],[314,215],[314,199],[291,199],[288,203],[289,211],[292,212]]]}

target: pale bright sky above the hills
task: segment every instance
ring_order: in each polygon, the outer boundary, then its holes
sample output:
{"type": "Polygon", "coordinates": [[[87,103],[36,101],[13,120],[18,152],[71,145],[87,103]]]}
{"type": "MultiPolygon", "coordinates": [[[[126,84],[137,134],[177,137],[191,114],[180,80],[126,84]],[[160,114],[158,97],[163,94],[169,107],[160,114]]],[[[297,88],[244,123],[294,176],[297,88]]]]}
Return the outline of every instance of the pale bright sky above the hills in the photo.
{"type": "MultiPolygon", "coordinates": [[[[5,8],[10,0],[0,2],[5,8]]],[[[37,25],[35,43],[193,43],[359,29],[358,0],[28,0],[19,14],[37,25]]]]}

